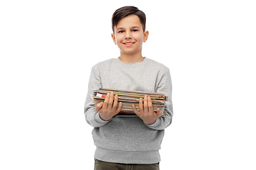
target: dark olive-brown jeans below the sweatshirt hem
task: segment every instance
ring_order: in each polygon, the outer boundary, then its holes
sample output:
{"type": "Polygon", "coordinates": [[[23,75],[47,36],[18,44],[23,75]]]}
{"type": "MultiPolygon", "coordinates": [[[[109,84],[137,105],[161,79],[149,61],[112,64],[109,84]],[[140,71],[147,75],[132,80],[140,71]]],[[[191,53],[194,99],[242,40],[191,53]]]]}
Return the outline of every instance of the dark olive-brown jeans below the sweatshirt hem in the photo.
{"type": "Polygon", "coordinates": [[[159,170],[157,164],[116,164],[95,159],[94,170],[159,170]]]}

